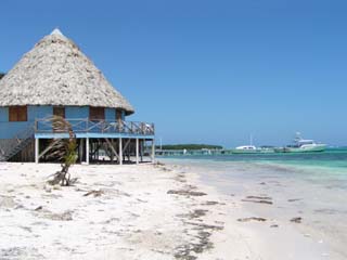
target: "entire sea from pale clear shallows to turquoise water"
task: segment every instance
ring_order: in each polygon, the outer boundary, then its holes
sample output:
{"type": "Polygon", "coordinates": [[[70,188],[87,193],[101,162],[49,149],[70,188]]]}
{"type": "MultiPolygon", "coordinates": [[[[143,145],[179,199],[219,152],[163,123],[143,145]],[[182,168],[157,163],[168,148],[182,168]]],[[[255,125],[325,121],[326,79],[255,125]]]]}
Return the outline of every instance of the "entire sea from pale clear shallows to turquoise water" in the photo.
{"type": "Polygon", "coordinates": [[[307,154],[179,156],[162,161],[198,171],[201,180],[239,197],[269,196],[272,207],[245,204],[255,216],[290,221],[347,259],[347,148],[307,154]]]}

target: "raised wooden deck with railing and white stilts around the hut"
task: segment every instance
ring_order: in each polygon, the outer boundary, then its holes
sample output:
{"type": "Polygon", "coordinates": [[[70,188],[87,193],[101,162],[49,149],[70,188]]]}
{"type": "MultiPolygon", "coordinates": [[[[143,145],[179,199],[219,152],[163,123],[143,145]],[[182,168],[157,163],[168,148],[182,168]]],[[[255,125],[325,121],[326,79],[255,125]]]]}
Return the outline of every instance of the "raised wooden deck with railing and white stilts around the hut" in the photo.
{"type": "MultiPolygon", "coordinates": [[[[90,120],[66,119],[76,135],[78,143],[78,154],[80,162],[82,159],[89,164],[89,160],[98,160],[99,151],[111,151],[108,157],[112,161],[116,160],[123,164],[125,157],[130,160],[136,157],[136,164],[139,164],[139,157],[143,157],[146,142],[151,144],[151,160],[154,161],[154,123],[121,121],[121,120],[90,120]]],[[[52,126],[52,118],[39,118],[29,127],[14,134],[12,139],[1,140],[0,142],[0,161],[33,161],[44,160],[44,156],[50,152],[50,140],[68,139],[68,129],[56,129],[52,126]],[[34,157],[35,156],[35,157],[34,157]]]]}

